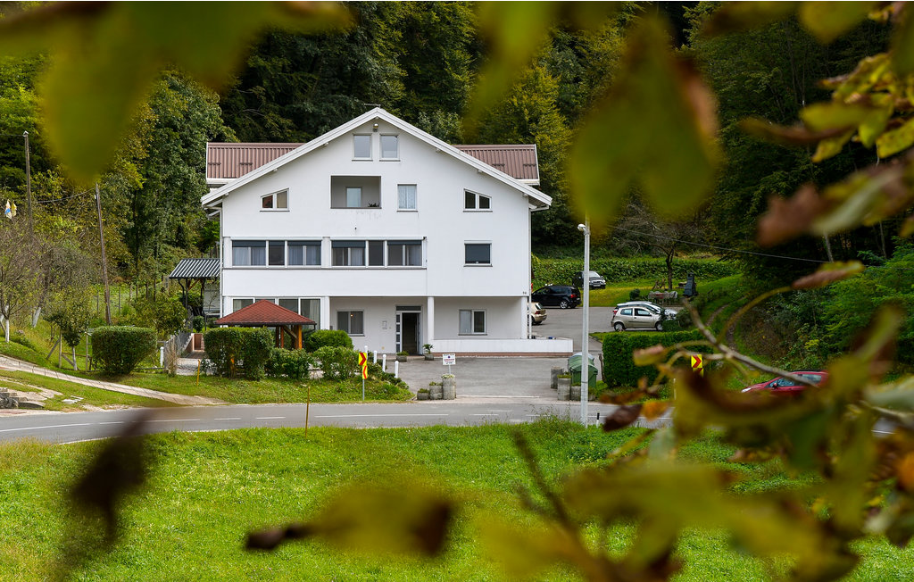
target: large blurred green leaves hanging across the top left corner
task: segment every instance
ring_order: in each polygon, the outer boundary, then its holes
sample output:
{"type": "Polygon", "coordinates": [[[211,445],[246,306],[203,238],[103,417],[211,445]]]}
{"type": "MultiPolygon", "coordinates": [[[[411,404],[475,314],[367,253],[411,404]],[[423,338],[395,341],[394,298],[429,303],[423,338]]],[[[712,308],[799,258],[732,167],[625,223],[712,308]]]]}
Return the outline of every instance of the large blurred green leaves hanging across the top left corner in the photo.
{"type": "Polygon", "coordinates": [[[210,85],[227,79],[268,26],[343,26],[331,3],[118,2],[48,5],[0,20],[0,53],[49,50],[40,87],[48,141],[80,180],[101,172],[159,70],[210,85]]]}

